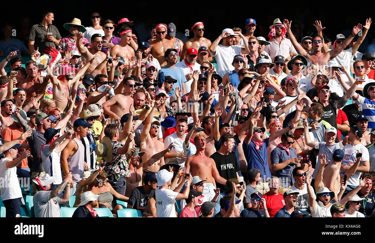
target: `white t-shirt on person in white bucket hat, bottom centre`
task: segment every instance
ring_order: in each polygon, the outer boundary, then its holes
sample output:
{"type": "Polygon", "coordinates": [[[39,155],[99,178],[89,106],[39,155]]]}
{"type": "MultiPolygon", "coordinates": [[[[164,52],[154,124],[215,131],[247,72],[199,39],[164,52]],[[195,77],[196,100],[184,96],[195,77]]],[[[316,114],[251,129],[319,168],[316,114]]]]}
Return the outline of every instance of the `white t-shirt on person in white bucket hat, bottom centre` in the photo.
{"type": "Polygon", "coordinates": [[[160,189],[159,187],[155,190],[156,196],[156,214],[157,217],[177,217],[174,200],[176,199],[178,192],[174,192],[170,189],[160,189]]]}

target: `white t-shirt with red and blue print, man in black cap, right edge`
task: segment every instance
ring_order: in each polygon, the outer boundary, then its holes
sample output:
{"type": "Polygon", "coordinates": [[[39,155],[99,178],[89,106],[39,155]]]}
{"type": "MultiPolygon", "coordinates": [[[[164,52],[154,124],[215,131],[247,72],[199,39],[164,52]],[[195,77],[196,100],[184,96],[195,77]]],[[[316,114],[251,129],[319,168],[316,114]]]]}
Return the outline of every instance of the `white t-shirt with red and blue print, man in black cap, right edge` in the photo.
{"type": "MultiPolygon", "coordinates": [[[[349,165],[353,166],[356,163],[357,153],[362,153],[361,161],[359,162],[359,166],[362,166],[362,161],[370,160],[369,150],[363,144],[357,145],[350,145],[347,144],[344,147],[344,160],[342,160],[341,166],[349,165]]],[[[340,171],[340,175],[344,175],[344,171],[340,171]]],[[[355,172],[348,180],[347,183],[350,186],[358,186],[359,185],[359,177],[361,176],[362,172],[355,172]]]]}

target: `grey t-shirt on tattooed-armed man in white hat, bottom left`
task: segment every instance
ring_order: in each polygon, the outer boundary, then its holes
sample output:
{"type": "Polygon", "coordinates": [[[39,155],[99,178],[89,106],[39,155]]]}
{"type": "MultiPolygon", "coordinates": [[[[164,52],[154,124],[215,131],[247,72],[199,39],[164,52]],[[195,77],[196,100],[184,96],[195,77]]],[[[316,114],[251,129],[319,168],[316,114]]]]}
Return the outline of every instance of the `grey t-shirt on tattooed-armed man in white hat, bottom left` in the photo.
{"type": "Polygon", "coordinates": [[[49,190],[35,193],[33,198],[35,217],[61,217],[60,205],[58,205],[61,198],[55,196],[48,200],[51,192],[49,190]]]}

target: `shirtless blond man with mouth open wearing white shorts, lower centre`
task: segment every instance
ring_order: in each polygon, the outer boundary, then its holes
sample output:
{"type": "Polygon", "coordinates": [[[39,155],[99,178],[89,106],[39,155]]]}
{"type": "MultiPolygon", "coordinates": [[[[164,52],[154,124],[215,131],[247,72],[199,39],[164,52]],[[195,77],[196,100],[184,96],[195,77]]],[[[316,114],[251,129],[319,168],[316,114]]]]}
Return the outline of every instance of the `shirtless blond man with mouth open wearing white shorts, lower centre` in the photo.
{"type": "Polygon", "coordinates": [[[215,196],[215,181],[223,184],[226,183],[226,179],[220,176],[215,161],[205,155],[205,134],[202,132],[197,133],[194,137],[194,143],[196,154],[187,158],[185,163],[186,173],[191,172],[193,176],[198,175],[202,180],[205,180],[202,194],[207,196],[208,200],[211,201],[215,196]]]}

